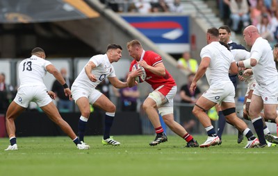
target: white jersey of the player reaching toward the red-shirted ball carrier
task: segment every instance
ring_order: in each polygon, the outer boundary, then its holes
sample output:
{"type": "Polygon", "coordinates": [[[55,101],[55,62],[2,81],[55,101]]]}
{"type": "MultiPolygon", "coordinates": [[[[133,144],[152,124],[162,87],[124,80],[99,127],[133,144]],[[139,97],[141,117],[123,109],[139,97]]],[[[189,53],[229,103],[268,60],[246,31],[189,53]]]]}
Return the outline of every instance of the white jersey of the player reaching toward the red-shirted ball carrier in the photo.
{"type": "Polygon", "coordinates": [[[85,73],[85,67],[79,73],[79,76],[74,80],[72,85],[78,87],[97,87],[99,83],[108,77],[115,77],[115,70],[113,65],[109,62],[106,54],[104,55],[95,55],[88,62],[94,62],[96,67],[92,69],[92,74],[97,78],[96,82],[92,82],[87,74],[85,73]]]}

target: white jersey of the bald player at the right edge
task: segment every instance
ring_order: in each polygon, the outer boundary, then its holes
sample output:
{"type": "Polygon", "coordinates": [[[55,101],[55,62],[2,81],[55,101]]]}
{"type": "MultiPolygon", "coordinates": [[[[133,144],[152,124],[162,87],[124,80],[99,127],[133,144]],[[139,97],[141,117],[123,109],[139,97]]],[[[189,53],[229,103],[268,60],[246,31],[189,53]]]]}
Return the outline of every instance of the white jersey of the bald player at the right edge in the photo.
{"type": "Polygon", "coordinates": [[[259,85],[268,85],[277,80],[277,69],[273,58],[270,44],[266,39],[259,37],[254,42],[250,51],[250,58],[259,60],[255,67],[252,67],[254,77],[259,85]]]}

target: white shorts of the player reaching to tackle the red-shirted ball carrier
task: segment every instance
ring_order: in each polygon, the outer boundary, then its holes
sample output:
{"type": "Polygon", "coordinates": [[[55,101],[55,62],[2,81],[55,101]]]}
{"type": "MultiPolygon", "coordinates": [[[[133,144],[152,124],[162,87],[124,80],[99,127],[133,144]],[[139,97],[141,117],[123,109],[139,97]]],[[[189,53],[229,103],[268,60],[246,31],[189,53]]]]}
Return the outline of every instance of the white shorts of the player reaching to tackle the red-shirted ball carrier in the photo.
{"type": "Polygon", "coordinates": [[[75,103],[81,97],[86,97],[89,103],[93,105],[97,99],[102,95],[102,93],[94,88],[84,89],[83,87],[72,86],[72,98],[75,103]]]}

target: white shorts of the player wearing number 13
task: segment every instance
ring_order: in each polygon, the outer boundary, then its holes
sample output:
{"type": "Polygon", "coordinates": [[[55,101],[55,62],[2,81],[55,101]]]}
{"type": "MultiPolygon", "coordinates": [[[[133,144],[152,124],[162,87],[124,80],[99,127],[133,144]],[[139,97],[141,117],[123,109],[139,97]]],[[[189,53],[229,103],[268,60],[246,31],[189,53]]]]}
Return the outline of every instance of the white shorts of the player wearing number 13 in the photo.
{"type": "Polygon", "coordinates": [[[37,103],[38,107],[48,105],[52,99],[47,94],[45,86],[26,86],[19,87],[14,101],[17,105],[26,108],[30,102],[37,103]]]}

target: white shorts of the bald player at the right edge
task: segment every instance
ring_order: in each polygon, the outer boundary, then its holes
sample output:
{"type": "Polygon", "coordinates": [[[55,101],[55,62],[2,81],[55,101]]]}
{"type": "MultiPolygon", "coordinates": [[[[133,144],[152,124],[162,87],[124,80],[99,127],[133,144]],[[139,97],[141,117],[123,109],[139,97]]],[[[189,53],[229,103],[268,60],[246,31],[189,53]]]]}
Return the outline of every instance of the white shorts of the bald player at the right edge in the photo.
{"type": "Polygon", "coordinates": [[[269,85],[256,85],[253,94],[261,96],[263,104],[278,104],[278,80],[274,80],[269,85]]]}

